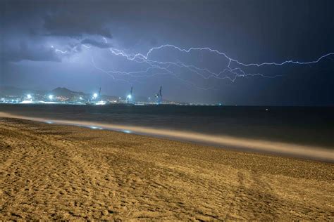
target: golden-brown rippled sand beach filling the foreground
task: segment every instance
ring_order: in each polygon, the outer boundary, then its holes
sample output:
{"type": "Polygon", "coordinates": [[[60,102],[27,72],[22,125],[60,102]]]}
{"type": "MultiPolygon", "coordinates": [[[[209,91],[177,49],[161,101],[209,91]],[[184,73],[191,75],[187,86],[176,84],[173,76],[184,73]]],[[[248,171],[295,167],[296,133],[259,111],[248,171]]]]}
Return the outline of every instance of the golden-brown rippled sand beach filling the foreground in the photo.
{"type": "Polygon", "coordinates": [[[334,165],[0,118],[0,219],[334,220],[334,165]]]}

